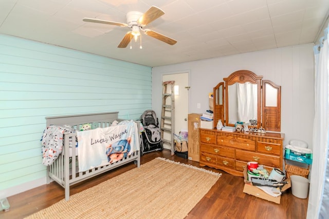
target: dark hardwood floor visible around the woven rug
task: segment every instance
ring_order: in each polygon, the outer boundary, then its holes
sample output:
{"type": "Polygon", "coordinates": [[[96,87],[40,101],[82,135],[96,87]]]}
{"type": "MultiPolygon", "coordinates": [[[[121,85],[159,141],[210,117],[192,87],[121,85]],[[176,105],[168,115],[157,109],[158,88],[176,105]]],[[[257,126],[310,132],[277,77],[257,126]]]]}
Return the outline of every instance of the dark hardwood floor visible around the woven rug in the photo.
{"type": "MultiPolygon", "coordinates": [[[[180,163],[197,166],[198,162],[171,156],[170,151],[145,153],[141,164],[161,156],[180,163]]],[[[86,188],[97,185],[108,178],[135,168],[133,163],[117,170],[103,173],[83,183],[71,187],[70,194],[78,193],[86,188]]],[[[230,175],[224,171],[202,167],[222,173],[222,176],[210,191],[200,200],[186,217],[190,218],[306,218],[307,198],[301,199],[291,194],[291,189],[281,196],[281,204],[262,200],[261,198],[243,193],[243,177],[230,175]]],[[[176,188],[173,188],[176,189],[176,188]]],[[[34,212],[46,208],[64,198],[64,189],[57,183],[50,183],[29,191],[8,197],[10,210],[0,212],[0,218],[24,218],[34,212]]],[[[184,203],[181,203],[184,205],[184,203]]],[[[174,218],[174,216],[173,216],[174,218]]]]}

